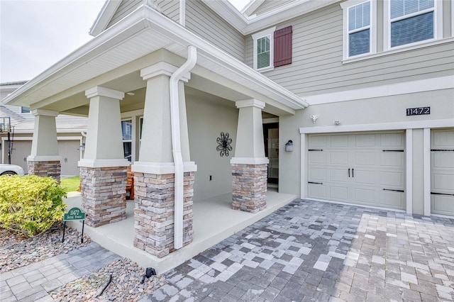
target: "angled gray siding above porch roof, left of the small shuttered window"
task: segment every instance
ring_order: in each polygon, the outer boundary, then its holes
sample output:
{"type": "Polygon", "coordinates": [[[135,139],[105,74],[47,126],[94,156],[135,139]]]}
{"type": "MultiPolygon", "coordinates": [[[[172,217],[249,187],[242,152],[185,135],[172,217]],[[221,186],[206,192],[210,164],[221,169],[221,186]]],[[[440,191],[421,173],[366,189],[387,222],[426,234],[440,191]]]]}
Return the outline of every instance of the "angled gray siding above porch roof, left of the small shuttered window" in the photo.
{"type": "Polygon", "coordinates": [[[201,1],[186,2],[186,28],[244,62],[244,36],[201,1]]]}

